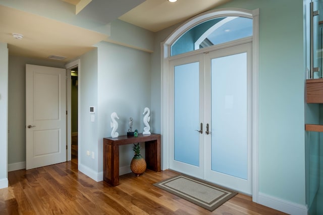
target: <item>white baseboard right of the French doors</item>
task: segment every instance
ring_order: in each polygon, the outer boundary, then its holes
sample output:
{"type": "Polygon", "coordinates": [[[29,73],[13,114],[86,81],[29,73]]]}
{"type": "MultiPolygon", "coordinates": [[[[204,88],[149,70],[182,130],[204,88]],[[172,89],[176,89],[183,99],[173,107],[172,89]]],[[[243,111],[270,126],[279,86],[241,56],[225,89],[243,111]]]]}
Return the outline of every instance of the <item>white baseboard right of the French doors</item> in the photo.
{"type": "Polygon", "coordinates": [[[301,204],[285,201],[263,193],[258,195],[258,203],[293,215],[307,215],[307,207],[301,204]]]}

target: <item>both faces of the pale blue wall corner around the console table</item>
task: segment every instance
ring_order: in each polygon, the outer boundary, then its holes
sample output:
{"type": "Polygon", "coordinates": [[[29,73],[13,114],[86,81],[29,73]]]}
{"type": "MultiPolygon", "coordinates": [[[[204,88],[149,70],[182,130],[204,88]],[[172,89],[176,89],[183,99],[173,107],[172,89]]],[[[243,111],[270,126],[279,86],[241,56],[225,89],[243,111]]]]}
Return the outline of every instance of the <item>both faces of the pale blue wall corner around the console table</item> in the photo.
{"type": "MultiPolygon", "coordinates": [[[[80,57],[79,167],[93,179],[102,180],[103,138],[111,136],[111,113],[117,112],[120,118],[119,135],[127,133],[130,117],[133,129],[142,132],[145,107],[151,109],[151,123],[159,119],[155,119],[155,110],[150,107],[150,54],[109,42],[100,42],[96,47],[80,57]],[[89,106],[96,108],[94,122],[90,120],[89,106]],[[87,156],[86,151],[94,152],[95,158],[87,156]]],[[[156,132],[152,125],[151,132],[156,132]]],[[[132,146],[120,147],[121,174],[130,172],[132,157],[132,146]]]]}

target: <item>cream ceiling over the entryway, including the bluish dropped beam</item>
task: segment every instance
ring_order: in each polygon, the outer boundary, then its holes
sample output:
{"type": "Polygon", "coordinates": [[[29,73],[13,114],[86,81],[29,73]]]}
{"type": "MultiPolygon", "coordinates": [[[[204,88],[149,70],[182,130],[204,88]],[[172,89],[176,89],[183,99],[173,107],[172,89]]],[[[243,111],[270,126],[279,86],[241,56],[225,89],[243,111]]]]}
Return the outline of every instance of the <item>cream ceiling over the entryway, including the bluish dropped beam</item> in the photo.
{"type": "Polygon", "coordinates": [[[8,43],[10,55],[58,55],[69,61],[107,39],[96,29],[115,19],[157,32],[228,1],[0,0],[0,42],[8,43]],[[23,39],[15,39],[13,33],[23,39]]]}

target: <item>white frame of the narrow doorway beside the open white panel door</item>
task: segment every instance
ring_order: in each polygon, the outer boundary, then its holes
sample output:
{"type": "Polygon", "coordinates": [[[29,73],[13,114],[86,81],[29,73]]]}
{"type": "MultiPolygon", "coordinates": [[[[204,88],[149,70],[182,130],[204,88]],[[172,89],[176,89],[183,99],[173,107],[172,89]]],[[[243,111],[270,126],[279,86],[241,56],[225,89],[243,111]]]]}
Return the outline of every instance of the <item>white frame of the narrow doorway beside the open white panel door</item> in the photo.
{"type": "MultiPolygon", "coordinates": [[[[74,68],[74,67],[78,67],[78,81],[77,81],[77,85],[78,85],[78,88],[80,86],[80,66],[81,66],[81,60],[80,59],[77,59],[77,60],[74,60],[72,62],[69,62],[67,64],[65,64],[65,68],[66,68],[66,77],[67,77],[67,84],[66,84],[66,110],[67,110],[67,115],[66,115],[66,142],[67,142],[67,161],[70,161],[71,160],[71,152],[72,152],[72,132],[71,132],[71,129],[72,129],[72,125],[71,125],[71,120],[72,120],[72,114],[71,114],[71,69],[74,68]]],[[[78,123],[80,122],[80,91],[78,90],[77,92],[77,102],[78,102],[78,105],[77,105],[77,121],[78,123]]],[[[77,133],[79,134],[80,133],[80,125],[78,124],[77,126],[77,133]]],[[[78,141],[78,140],[77,140],[78,141]]],[[[78,144],[77,146],[79,147],[79,141],[78,141],[78,144]]],[[[80,150],[77,150],[77,153],[78,153],[78,156],[77,156],[77,159],[78,159],[78,163],[79,163],[79,159],[80,159],[80,150]]]]}

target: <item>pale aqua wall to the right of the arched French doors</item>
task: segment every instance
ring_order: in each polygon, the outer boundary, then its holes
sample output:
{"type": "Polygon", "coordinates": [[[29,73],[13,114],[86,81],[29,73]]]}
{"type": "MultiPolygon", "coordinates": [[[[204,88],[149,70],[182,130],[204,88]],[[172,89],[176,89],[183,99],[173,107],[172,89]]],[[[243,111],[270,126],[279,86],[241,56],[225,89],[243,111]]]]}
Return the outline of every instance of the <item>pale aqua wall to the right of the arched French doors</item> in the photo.
{"type": "MultiPolygon", "coordinates": [[[[259,192],[305,205],[303,1],[233,0],[221,8],[260,11],[259,192]]],[[[157,33],[156,46],[168,30],[157,33]]]]}

